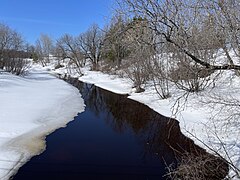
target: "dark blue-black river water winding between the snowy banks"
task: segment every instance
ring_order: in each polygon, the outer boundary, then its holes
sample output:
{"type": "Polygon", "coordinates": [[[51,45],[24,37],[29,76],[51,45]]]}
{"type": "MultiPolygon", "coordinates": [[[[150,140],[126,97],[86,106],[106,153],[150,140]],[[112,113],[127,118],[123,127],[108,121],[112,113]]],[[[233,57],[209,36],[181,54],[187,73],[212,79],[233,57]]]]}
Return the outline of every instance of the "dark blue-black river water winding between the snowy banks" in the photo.
{"type": "Polygon", "coordinates": [[[85,111],[47,136],[46,151],[13,179],[161,180],[181,153],[205,153],[180,132],[178,121],[126,95],[69,81],[82,94],[85,111]]]}

